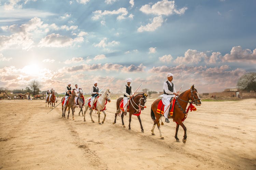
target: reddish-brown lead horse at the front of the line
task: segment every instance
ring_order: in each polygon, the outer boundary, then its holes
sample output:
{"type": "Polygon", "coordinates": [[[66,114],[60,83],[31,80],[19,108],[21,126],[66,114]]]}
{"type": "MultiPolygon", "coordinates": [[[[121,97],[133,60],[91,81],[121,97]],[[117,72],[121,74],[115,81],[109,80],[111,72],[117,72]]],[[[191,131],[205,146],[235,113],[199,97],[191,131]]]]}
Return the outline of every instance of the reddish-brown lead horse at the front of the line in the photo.
{"type": "MultiPolygon", "coordinates": [[[[153,102],[153,104],[151,105],[151,118],[154,121],[154,125],[153,125],[153,128],[152,128],[151,132],[152,132],[152,135],[155,135],[154,134],[154,129],[155,129],[155,126],[157,124],[158,130],[159,130],[159,133],[160,133],[160,137],[161,137],[161,139],[164,139],[164,137],[161,134],[160,123],[159,123],[159,118],[161,117],[161,115],[156,113],[157,106],[158,106],[158,103],[160,102],[160,100],[161,99],[155,100],[153,102]]],[[[187,133],[186,133],[187,128],[183,124],[183,121],[184,121],[185,117],[187,116],[186,107],[187,107],[188,103],[190,103],[190,104],[194,103],[198,106],[201,105],[201,99],[199,98],[197,89],[195,89],[194,85],[191,86],[190,89],[184,91],[176,99],[176,102],[175,102],[175,105],[174,105],[174,110],[173,110],[173,116],[170,117],[170,115],[168,114],[168,117],[172,118],[173,121],[175,121],[177,123],[176,124],[176,133],[175,133],[175,139],[176,139],[177,142],[180,142],[179,138],[177,137],[180,125],[182,126],[182,128],[184,130],[184,136],[183,136],[183,140],[182,140],[183,143],[186,143],[186,140],[187,140],[187,133]]]]}

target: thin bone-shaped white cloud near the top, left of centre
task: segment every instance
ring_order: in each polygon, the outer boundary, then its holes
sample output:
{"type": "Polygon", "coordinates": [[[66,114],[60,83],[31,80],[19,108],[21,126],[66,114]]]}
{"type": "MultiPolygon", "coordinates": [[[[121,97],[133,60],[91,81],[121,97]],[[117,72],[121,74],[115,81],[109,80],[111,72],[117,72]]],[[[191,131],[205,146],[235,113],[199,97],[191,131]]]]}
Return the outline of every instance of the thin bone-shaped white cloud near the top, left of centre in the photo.
{"type": "Polygon", "coordinates": [[[125,16],[127,16],[128,11],[126,10],[126,8],[119,8],[118,10],[113,10],[113,11],[94,11],[94,16],[91,17],[93,20],[99,20],[101,17],[105,16],[105,15],[119,15],[117,17],[117,20],[121,20],[121,19],[125,19],[125,16]]]}

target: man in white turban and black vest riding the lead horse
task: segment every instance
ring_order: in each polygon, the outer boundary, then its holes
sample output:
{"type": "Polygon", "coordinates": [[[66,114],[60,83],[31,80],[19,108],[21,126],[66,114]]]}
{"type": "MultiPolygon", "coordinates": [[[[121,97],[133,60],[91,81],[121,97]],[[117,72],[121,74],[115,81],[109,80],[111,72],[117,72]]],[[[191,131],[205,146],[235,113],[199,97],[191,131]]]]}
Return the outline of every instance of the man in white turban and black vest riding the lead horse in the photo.
{"type": "Polygon", "coordinates": [[[169,106],[170,102],[172,101],[172,98],[175,97],[175,95],[178,95],[172,80],[173,80],[173,74],[168,73],[167,74],[167,81],[163,83],[163,94],[161,95],[162,96],[162,102],[165,105],[165,108],[163,110],[166,111],[164,113],[164,116],[165,116],[165,122],[167,122],[167,123],[170,122],[168,120],[169,108],[172,108],[171,107],[172,104],[171,104],[171,106],[169,106]]]}

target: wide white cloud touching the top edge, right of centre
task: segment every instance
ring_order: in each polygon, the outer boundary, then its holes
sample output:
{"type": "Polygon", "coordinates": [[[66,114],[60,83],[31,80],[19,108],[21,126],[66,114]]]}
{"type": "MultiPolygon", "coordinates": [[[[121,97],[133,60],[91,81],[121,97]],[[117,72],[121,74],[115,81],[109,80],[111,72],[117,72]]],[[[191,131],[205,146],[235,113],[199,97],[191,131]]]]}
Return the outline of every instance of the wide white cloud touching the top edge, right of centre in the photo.
{"type": "Polygon", "coordinates": [[[183,7],[179,10],[176,9],[175,7],[175,1],[168,1],[168,0],[162,0],[158,1],[154,5],[143,5],[140,8],[140,11],[145,13],[145,14],[155,14],[155,15],[172,15],[172,14],[178,14],[182,15],[185,13],[187,10],[187,7],[183,7]]]}

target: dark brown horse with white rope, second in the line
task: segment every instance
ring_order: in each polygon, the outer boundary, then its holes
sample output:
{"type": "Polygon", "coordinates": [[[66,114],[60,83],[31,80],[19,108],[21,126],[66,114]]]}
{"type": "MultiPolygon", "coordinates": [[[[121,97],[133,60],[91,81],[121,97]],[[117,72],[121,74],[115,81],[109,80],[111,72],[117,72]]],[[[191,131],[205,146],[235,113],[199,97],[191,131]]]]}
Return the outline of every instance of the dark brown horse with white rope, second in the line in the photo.
{"type": "MultiPolygon", "coordinates": [[[[147,99],[147,94],[138,94],[136,96],[133,96],[130,99],[129,102],[129,130],[131,130],[131,115],[133,114],[139,114],[141,111],[143,111],[144,107],[145,107],[145,103],[146,103],[146,99],[147,99]]],[[[119,115],[120,112],[122,112],[121,114],[121,118],[122,118],[122,124],[123,127],[125,128],[125,123],[124,123],[124,112],[120,109],[120,104],[122,102],[123,98],[119,98],[116,101],[116,113],[115,113],[115,120],[113,122],[113,124],[116,123],[116,117],[117,115],[119,115]]],[[[128,112],[128,111],[127,111],[128,112]]],[[[139,119],[140,122],[140,128],[141,128],[141,132],[144,133],[142,124],[141,124],[141,119],[140,119],[140,115],[137,116],[137,118],[139,119]]]]}

